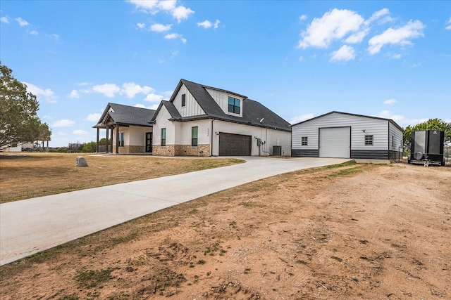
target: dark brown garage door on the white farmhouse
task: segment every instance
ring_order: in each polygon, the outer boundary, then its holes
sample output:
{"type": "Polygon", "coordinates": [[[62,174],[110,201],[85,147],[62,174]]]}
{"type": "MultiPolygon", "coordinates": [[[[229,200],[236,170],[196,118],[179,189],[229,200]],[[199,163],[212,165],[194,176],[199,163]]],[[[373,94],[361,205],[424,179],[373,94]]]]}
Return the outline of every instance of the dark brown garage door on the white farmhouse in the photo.
{"type": "Polygon", "coordinates": [[[251,155],[252,136],[240,134],[219,133],[220,156],[249,156],[251,155]]]}

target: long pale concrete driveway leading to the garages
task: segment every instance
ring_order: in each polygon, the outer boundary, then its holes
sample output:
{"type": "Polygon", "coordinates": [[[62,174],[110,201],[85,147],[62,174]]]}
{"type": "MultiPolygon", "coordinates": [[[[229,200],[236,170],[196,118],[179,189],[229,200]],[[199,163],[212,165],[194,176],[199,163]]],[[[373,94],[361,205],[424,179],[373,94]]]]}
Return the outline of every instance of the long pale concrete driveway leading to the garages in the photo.
{"type": "Polygon", "coordinates": [[[0,204],[0,266],[220,190],[350,160],[239,158],[247,162],[0,204]]]}

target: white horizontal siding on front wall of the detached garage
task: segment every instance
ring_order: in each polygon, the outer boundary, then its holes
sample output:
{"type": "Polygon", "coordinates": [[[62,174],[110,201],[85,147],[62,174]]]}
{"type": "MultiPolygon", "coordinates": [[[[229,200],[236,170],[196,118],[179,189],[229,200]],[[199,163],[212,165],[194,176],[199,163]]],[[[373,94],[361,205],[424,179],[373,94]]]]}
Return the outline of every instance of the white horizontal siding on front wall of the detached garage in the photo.
{"type": "Polygon", "coordinates": [[[351,158],[388,159],[388,120],[333,112],[292,126],[292,155],[319,156],[319,129],[351,127],[351,158]],[[373,145],[365,145],[365,136],[373,145]],[[307,136],[308,145],[302,146],[307,136]]]}

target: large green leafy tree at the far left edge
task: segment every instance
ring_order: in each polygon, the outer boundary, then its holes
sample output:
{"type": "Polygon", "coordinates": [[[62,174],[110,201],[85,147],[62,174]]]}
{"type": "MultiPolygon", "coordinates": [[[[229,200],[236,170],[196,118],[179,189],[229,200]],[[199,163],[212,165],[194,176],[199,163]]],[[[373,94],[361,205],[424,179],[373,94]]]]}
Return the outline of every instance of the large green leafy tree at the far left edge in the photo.
{"type": "Polygon", "coordinates": [[[42,129],[36,96],[1,62],[0,72],[0,149],[36,141],[42,129]]]}

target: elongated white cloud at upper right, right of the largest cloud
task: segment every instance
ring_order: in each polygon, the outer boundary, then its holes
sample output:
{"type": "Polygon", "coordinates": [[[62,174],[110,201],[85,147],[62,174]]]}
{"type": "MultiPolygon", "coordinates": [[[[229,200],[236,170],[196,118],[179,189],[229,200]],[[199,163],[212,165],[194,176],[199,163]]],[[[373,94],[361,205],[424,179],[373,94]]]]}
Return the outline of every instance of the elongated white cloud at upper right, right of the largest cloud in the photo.
{"type": "Polygon", "coordinates": [[[424,27],[423,23],[419,20],[410,20],[406,25],[396,29],[390,27],[385,32],[372,37],[368,41],[368,51],[373,55],[381,51],[381,48],[386,44],[411,45],[412,42],[410,39],[424,37],[424,27]]]}

